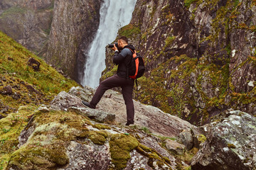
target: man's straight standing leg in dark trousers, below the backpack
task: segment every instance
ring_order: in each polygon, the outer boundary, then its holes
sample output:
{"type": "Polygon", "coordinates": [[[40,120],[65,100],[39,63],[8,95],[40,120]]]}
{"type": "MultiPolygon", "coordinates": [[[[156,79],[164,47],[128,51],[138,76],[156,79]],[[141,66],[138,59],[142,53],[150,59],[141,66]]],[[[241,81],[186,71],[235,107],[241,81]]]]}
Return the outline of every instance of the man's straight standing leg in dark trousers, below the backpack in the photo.
{"type": "Polygon", "coordinates": [[[127,108],[127,125],[134,124],[134,103],[132,101],[132,91],[134,87],[134,80],[128,80],[129,84],[122,86],[122,95],[124,103],[127,108]]]}

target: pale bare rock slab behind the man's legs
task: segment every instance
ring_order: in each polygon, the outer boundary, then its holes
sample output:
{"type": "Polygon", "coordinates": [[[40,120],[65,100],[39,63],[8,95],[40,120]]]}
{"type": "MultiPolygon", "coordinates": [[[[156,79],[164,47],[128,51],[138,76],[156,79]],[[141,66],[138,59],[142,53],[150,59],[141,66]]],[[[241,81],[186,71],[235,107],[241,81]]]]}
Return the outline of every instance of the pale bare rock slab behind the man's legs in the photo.
{"type": "MultiPolygon", "coordinates": [[[[73,87],[69,91],[69,94],[76,95],[86,101],[90,101],[94,93],[95,90],[87,86],[83,89],[81,87],[73,87]]],[[[191,125],[191,123],[174,115],[164,113],[154,106],[146,106],[138,101],[134,101],[134,109],[135,125],[139,128],[146,128],[156,135],[176,137],[183,130],[194,129],[197,131],[196,126],[191,125]]],[[[122,94],[117,91],[106,91],[100,103],[97,104],[96,110],[113,113],[117,123],[125,124],[127,121],[124,99],[122,94]]]]}

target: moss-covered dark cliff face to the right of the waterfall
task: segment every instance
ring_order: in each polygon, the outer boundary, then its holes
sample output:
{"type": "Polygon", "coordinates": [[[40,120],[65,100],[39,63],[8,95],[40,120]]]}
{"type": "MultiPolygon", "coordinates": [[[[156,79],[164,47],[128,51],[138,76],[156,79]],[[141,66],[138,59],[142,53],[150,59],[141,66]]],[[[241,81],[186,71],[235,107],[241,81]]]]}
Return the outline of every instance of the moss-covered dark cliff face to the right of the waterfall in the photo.
{"type": "Polygon", "coordinates": [[[137,1],[119,30],[146,62],[135,98],[198,124],[227,108],[255,114],[255,10],[255,1],[137,1]]]}

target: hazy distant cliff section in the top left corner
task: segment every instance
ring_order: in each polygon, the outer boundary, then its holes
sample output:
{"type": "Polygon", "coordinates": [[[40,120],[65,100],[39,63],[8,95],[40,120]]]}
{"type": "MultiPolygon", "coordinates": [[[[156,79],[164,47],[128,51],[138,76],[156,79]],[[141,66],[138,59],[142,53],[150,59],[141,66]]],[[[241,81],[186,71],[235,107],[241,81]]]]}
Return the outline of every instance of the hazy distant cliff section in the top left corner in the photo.
{"type": "Polygon", "coordinates": [[[38,54],[50,33],[53,0],[0,2],[0,30],[38,54]]]}

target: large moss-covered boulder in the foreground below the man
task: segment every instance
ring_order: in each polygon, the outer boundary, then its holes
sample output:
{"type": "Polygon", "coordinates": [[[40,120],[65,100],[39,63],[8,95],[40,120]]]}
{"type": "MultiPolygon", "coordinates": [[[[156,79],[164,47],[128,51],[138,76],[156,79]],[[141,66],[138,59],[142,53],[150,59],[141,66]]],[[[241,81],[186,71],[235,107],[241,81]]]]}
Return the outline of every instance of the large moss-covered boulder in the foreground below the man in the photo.
{"type": "MultiPolygon", "coordinates": [[[[30,112],[31,114],[31,112],[30,112]]],[[[41,106],[18,137],[6,169],[175,169],[154,135],[41,106]]]]}

